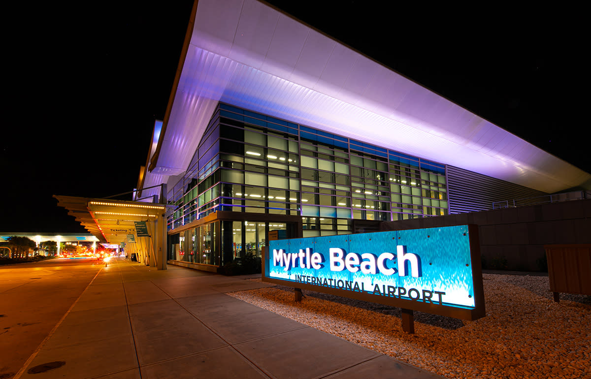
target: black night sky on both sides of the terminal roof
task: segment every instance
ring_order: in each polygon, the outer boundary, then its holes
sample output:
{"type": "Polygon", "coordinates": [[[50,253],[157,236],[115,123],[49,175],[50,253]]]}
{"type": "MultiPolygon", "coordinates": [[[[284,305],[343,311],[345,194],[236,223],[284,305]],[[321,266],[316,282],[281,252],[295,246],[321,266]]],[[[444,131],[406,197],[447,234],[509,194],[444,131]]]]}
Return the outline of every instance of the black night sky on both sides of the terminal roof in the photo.
{"type": "MultiPolygon", "coordinates": [[[[581,10],[271,4],[591,172],[581,10]]],[[[107,197],[136,187],[191,6],[7,9],[0,231],[83,233],[52,195],[107,197]]]]}

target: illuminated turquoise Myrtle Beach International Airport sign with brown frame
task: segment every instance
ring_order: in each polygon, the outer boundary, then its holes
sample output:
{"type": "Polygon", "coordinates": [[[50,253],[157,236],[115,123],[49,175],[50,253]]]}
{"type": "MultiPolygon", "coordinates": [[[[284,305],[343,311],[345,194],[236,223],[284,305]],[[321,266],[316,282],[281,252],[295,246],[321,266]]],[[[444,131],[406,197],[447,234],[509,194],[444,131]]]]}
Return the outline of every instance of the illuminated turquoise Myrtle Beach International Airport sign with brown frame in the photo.
{"type": "Polygon", "coordinates": [[[472,225],[269,241],[263,280],[460,319],[484,315],[472,225]]]}

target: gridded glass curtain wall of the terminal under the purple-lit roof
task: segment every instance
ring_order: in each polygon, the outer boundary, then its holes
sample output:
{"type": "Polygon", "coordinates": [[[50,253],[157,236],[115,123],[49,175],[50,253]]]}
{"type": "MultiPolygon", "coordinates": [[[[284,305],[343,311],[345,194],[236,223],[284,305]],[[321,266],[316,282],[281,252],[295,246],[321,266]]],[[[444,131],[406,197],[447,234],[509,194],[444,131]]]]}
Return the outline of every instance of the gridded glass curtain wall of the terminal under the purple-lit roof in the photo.
{"type": "MultiPolygon", "coordinates": [[[[178,208],[170,228],[223,210],[301,215],[304,237],[326,236],[351,233],[352,219],[404,220],[448,210],[442,164],[228,104],[219,104],[177,187],[182,195],[171,199],[178,208]]],[[[229,228],[223,226],[225,233],[229,228]]],[[[231,242],[239,246],[232,256],[258,253],[264,243],[258,225],[232,226],[232,233],[241,233],[239,243],[231,242]]]]}

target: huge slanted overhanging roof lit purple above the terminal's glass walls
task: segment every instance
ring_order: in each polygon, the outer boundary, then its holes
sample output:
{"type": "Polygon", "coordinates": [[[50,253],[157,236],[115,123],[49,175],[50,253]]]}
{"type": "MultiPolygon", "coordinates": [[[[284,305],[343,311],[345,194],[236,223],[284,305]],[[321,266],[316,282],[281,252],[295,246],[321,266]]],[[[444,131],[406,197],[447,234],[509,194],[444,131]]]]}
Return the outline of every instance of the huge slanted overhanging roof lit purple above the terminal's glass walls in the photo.
{"type": "Polygon", "coordinates": [[[591,179],[262,2],[199,0],[193,11],[144,187],[186,171],[220,101],[544,192],[591,179]]]}

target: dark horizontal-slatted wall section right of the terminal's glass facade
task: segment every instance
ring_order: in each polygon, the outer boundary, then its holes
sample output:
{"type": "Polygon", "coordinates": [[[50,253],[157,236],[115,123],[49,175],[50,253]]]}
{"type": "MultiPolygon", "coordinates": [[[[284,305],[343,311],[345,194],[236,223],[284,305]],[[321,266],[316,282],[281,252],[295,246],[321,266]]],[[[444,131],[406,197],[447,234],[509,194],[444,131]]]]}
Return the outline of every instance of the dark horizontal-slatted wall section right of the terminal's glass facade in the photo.
{"type": "Polygon", "coordinates": [[[537,197],[545,192],[488,177],[463,168],[447,166],[450,214],[492,210],[502,200],[537,197]]]}

